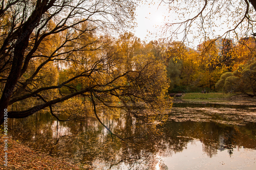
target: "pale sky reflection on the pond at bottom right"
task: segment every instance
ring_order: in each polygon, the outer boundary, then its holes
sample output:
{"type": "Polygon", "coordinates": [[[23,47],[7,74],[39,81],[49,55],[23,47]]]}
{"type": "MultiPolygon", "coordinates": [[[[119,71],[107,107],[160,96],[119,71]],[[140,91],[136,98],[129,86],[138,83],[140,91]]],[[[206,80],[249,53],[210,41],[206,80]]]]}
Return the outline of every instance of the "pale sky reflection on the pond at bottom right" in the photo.
{"type": "Polygon", "coordinates": [[[168,169],[255,169],[256,151],[236,147],[229,156],[227,150],[218,150],[209,157],[199,140],[189,142],[187,149],[171,157],[162,157],[168,169]]]}

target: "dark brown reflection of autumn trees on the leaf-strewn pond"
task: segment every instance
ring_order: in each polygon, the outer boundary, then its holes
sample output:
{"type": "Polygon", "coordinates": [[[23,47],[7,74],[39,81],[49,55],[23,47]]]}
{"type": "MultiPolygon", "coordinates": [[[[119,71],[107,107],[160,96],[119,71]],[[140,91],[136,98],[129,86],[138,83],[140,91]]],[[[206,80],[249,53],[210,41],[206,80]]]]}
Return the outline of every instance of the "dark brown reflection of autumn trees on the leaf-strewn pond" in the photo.
{"type": "Polygon", "coordinates": [[[211,119],[170,120],[162,126],[156,125],[158,130],[151,132],[147,126],[131,128],[124,114],[119,119],[102,117],[115,134],[146,135],[135,140],[135,144],[117,138],[112,141],[110,133],[91,117],[86,121],[59,122],[50,113],[38,112],[24,119],[10,119],[8,127],[14,139],[35,150],[105,169],[168,169],[161,158],[182,152],[194,139],[201,141],[203,151],[210,158],[222,150],[231,156],[234,147],[256,148],[254,122],[236,125],[216,122],[215,119],[223,120],[221,116],[211,119]]]}

